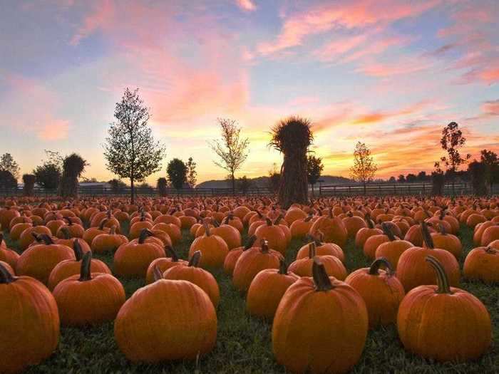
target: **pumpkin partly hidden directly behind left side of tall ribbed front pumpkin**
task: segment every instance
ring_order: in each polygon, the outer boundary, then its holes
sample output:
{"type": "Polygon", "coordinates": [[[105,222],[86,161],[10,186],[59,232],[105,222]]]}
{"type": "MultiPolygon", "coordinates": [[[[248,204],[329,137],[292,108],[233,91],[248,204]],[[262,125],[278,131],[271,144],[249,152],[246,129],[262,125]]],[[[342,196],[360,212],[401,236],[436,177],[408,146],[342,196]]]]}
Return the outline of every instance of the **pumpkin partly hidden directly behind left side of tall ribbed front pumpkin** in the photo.
{"type": "Polygon", "coordinates": [[[259,271],[249,285],[246,297],[248,313],[272,321],[284,292],[298,279],[297,274],[287,271],[284,259],[280,260],[279,269],[259,271]]]}

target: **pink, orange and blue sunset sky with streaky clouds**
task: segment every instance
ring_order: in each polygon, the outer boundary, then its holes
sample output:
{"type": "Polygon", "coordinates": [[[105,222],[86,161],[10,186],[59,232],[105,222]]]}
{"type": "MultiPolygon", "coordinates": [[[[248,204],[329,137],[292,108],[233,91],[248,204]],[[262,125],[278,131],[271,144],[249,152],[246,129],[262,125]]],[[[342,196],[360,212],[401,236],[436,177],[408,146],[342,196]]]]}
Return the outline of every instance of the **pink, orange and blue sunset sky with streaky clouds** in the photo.
{"type": "Polygon", "coordinates": [[[44,150],[80,153],[109,180],[115,103],[140,88],[168,160],[220,179],[217,118],[249,137],[237,175],[267,175],[278,120],[314,123],[324,175],[349,176],[357,141],[376,177],[426,170],[459,123],[463,152],[499,151],[497,0],[0,0],[0,153],[31,172],[44,150]]]}

